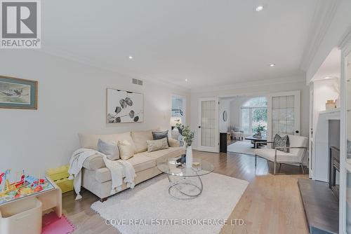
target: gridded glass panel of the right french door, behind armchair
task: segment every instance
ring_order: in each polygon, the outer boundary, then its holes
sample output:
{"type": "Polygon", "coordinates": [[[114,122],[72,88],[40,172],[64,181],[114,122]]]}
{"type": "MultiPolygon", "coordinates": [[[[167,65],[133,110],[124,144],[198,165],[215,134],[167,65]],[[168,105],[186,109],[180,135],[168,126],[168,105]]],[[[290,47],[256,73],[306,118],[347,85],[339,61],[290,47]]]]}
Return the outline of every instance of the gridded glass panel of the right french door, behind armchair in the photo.
{"type": "Polygon", "coordinates": [[[295,128],[295,97],[293,95],[272,98],[272,138],[279,134],[293,135],[295,128]]]}

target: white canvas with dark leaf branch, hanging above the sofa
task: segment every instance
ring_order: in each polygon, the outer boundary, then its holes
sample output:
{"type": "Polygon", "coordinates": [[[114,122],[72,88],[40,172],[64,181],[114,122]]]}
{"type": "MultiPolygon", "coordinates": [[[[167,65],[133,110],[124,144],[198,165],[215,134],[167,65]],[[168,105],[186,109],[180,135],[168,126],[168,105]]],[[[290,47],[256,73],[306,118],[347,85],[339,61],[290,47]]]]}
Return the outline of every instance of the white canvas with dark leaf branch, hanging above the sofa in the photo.
{"type": "Polygon", "coordinates": [[[144,121],[144,97],[138,92],[107,88],[107,123],[144,121]]]}

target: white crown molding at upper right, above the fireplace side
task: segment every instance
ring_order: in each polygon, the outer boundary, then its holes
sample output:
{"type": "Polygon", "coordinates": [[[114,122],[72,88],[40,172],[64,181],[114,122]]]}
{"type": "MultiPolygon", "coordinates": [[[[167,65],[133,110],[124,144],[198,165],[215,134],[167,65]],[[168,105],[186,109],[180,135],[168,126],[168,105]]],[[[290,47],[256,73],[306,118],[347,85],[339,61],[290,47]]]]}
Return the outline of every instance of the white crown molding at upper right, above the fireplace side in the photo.
{"type": "Polygon", "coordinates": [[[308,67],[310,67],[324,36],[326,36],[326,32],[328,32],[339,5],[340,0],[317,1],[310,25],[310,32],[307,36],[307,43],[300,63],[300,69],[303,71],[307,71],[308,67]]]}

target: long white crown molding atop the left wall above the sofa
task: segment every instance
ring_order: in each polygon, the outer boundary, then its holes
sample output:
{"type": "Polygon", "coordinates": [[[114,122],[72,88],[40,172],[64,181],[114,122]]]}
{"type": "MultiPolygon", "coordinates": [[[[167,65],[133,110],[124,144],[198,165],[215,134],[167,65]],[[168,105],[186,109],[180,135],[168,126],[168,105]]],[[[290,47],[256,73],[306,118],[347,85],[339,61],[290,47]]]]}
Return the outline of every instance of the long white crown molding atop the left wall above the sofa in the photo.
{"type": "Polygon", "coordinates": [[[45,53],[53,57],[59,57],[63,60],[69,60],[69,61],[77,62],[79,64],[83,64],[88,67],[94,67],[95,69],[101,69],[102,71],[108,71],[114,74],[119,74],[124,78],[138,78],[154,84],[164,85],[168,88],[173,88],[180,92],[190,92],[190,88],[183,87],[181,85],[174,84],[168,81],[164,81],[159,78],[153,78],[151,76],[148,76],[147,74],[140,74],[135,71],[128,71],[128,69],[116,67],[113,64],[101,62],[100,60],[92,59],[90,57],[77,56],[77,55],[74,55],[73,53],[69,53],[66,50],[62,50],[58,48],[47,48],[44,46],[44,48],[42,47],[41,50],[37,50],[37,51],[39,53],[45,53]],[[121,70],[123,70],[124,72],[123,71],[121,72],[121,70]]]}

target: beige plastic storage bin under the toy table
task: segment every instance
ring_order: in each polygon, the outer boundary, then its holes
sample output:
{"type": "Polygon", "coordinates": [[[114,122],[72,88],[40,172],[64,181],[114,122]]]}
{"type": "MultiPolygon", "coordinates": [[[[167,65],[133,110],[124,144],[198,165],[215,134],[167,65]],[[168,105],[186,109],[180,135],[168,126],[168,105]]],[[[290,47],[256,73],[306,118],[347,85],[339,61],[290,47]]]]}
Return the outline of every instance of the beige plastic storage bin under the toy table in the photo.
{"type": "Polygon", "coordinates": [[[40,234],[41,202],[25,198],[0,207],[0,234],[40,234]]]}

